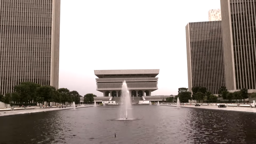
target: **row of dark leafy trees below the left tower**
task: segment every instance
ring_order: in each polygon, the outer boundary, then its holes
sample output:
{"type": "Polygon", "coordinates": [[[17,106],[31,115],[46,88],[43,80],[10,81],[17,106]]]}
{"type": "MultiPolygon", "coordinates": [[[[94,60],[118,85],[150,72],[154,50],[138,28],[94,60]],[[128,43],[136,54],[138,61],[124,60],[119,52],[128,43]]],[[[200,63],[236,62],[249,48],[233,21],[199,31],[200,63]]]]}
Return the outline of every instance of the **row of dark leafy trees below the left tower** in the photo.
{"type": "Polygon", "coordinates": [[[49,85],[41,86],[40,84],[32,82],[22,82],[19,85],[14,86],[12,93],[6,93],[5,96],[0,95],[0,102],[6,104],[17,104],[20,106],[27,105],[28,103],[43,104],[44,101],[47,103],[55,102],[65,104],[66,102],[80,102],[80,96],[77,91],[69,91],[67,88],[60,88],[56,90],[54,87],[49,85]]]}

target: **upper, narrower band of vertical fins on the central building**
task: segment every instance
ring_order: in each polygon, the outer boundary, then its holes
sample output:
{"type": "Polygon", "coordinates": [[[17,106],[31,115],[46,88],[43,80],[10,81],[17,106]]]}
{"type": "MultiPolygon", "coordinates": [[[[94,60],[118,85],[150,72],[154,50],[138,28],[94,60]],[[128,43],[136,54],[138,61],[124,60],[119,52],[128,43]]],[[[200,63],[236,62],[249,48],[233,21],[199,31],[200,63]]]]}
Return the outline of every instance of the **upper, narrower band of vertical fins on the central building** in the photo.
{"type": "Polygon", "coordinates": [[[137,78],[96,78],[96,82],[147,82],[158,81],[158,77],[137,77],[137,78]]]}

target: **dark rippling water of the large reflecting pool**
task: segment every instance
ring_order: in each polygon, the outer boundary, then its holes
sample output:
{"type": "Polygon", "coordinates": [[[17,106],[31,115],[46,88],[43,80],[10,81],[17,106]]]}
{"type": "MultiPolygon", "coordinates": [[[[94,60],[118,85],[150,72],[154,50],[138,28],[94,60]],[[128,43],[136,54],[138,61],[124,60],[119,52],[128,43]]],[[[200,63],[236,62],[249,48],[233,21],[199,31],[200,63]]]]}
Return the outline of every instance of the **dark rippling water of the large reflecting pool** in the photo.
{"type": "Polygon", "coordinates": [[[2,117],[0,144],[256,143],[255,114],[134,105],[135,120],[118,121],[119,108],[2,117]]]}

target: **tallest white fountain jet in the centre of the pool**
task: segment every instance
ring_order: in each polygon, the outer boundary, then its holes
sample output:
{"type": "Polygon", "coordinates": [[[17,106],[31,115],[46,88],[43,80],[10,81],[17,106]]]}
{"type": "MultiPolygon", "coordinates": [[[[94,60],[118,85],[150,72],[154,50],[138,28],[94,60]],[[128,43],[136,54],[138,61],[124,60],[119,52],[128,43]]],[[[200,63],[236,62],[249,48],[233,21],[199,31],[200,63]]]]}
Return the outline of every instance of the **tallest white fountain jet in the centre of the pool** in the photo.
{"type": "Polygon", "coordinates": [[[128,119],[128,117],[131,119],[131,113],[129,113],[128,116],[128,109],[131,109],[132,104],[131,104],[131,97],[128,91],[128,87],[126,82],[123,82],[122,85],[122,95],[121,95],[121,108],[120,108],[120,119],[125,120],[128,119]]]}

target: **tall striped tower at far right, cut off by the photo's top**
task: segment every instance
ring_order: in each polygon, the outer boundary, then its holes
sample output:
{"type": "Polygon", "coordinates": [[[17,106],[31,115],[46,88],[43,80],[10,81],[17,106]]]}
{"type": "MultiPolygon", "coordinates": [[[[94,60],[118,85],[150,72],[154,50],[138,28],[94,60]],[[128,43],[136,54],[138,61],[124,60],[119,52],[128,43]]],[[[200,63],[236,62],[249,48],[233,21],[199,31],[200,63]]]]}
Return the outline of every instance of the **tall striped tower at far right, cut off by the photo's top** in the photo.
{"type": "Polygon", "coordinates": [[[228,91],[256,92],[256,0],[220,0],[228,91]]]}

